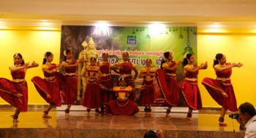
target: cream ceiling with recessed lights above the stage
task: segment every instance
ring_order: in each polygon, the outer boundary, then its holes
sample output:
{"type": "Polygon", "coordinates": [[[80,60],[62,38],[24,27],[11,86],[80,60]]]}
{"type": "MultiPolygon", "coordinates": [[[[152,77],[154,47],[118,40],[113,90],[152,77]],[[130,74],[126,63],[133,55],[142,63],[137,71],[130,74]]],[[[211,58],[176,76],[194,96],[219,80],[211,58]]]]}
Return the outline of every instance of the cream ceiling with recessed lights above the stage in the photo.
{"type": "Polygon", "coordinates": [[[1,0],[4,25],[195,25],[256,28],[255,0],[1,0]]]}

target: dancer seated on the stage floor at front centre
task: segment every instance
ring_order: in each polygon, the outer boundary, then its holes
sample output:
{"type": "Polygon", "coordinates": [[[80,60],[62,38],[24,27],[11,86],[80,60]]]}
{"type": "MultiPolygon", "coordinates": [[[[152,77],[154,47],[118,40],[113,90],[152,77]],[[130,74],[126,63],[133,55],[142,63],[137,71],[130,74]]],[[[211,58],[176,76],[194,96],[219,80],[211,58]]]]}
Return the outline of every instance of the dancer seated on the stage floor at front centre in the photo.
{"type": "MultiPolygon", "coordinates": [[[[113,89],[108,89],[110,91],[116,92],[116,100],[108,102],[105,113],[110,113],[113,115],[135,115],[140,110],[136,103],[129,100],[129,94],[135,91],[135,88],[127,86],[124,78],[119,79],[119,86],[114,86],[113,89]]],[[[105,86],[100,85],[102,89],[107,89],[105,86]]]]}

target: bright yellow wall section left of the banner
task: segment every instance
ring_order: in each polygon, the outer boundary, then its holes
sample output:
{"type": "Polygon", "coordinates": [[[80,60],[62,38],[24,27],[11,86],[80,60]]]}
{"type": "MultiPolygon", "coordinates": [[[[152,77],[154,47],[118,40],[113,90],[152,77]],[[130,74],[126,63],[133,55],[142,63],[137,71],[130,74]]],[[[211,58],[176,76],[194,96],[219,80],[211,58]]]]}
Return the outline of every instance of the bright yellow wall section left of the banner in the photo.
{"type": "MultiPolygon", "coordinates": [[[[11,79],[10,65],[13,65],[13,54],[20,52],[25,62],[35,61],[38,68],[27,70],[26,81],[29,86],[29,105],[46,104],[34,88],[31,82],[33,76],[42,75],[42,58],[45,52],[53,52],[53,62],[59,62],[59,50],[61,45],[61,29],[47,28],[47,30],[35,30],[38,28],[0,28],[0,77],[11,79]]],[[[42,28],[46,29],[46,28],[42,28]]],[[[0,98],[0,104],[6,104],[0,98]]]]}

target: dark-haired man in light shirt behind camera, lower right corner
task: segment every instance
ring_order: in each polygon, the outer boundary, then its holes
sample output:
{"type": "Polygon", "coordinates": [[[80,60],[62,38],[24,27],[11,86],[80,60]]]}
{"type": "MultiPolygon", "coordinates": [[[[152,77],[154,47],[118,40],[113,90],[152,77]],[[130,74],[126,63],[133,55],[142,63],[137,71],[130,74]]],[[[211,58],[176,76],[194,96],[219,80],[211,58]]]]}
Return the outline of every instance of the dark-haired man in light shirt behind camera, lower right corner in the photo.
{"type": "Polygon", "coordinates": [[[255,107],[249,102],[245,102],[238,107],[238,123],[245,131],[245,138],[256,137],[256,112],[255,107]]]}

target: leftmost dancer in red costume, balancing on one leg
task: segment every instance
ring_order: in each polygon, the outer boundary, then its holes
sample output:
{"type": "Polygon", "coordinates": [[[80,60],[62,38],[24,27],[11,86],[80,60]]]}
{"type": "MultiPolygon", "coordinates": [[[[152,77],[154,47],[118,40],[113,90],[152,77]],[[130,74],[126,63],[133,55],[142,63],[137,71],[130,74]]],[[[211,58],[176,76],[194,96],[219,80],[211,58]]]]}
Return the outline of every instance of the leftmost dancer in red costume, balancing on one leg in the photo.
{"type": "Polygon", "coordinates": [[[13,123],[18,123],[20,112],[28,109],[28,86],[25,80],[26,70],[37,67],[35,62],[25,63],[20,53],[13,56],[14,66],[10,67],[12,81],[7,78],[0,78],[0,97],[16,107],[12,115],[13,123]]]}

